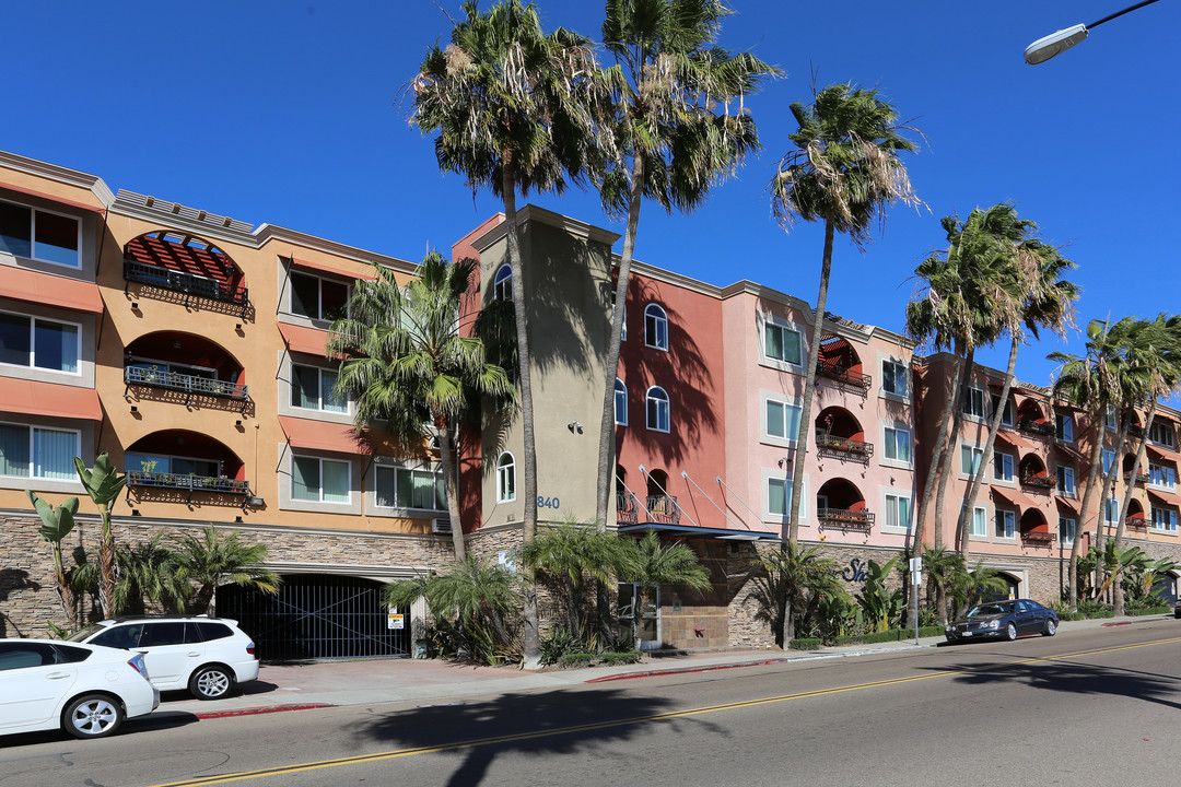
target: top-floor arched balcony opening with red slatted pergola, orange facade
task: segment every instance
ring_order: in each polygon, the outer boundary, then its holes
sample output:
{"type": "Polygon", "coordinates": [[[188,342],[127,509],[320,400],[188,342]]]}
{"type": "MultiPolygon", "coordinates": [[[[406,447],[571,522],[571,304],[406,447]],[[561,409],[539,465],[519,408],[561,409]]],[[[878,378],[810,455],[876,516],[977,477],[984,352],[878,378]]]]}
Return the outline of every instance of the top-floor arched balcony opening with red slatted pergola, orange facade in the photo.
{"type": "Polygon", "coordinates": [[[204,238],[155,230],[123,248],[123,278],[161,290],[244,307],[246,276],[228,254],[204,238]]]}

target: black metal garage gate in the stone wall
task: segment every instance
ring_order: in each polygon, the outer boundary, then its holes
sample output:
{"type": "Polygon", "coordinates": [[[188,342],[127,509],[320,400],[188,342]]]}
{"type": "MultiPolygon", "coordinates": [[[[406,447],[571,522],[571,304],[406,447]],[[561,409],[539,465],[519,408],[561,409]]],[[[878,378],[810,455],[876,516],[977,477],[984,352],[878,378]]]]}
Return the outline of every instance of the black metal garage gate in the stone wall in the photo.
{"type": "Polygon", "coordinates": [[[390,617],[384,585],[371,579],[288,575],[276,595],[217,589],[217,615],[239,622],[260,658],[409,656],[410,616],[390,617]]]}

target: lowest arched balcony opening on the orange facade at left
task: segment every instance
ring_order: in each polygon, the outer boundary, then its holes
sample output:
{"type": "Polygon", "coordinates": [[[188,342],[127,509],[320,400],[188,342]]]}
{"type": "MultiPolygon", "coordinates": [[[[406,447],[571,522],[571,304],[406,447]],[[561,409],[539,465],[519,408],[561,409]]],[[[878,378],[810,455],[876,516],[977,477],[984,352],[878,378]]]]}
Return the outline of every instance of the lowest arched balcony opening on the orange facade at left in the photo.
{"type": "MultiPolygon", "coordinates": [[[[249,497],[242,460],[220,440],[200,432],[163,429],[136,440],[123,459],[128,499],[216,504],[224,496],[249,497]]],[[[244,506],[246,503],[236,500],[244,506]]]]}

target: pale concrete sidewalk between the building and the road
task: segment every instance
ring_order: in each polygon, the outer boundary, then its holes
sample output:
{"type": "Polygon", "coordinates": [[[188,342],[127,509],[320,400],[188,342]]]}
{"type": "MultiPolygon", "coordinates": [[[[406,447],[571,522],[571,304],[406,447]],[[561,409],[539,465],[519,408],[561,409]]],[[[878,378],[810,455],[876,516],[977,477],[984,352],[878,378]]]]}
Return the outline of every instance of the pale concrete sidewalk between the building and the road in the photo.
{"type": "MultiPolygon", "coordinates": [[[[1059,624],[1058,630],[1077,631],[1160,619],[1161,616],[1064,621],[1059,624]]],[[[191,699],[187,693],[170,691],[164,694],[156,713],[180,711],[193,714],[198,719],[216,719],[380,702],[445,704],[479,694],[557,689],[578,683],[599,683],[653,675],[901,652],[934,648],[942,642],[944,637],[939,636],[924,637],[918,643],[914,640],[908,640],[906,642],[842,645],[810,651],[743,650],[679,656],[645,656],[639,664],[555,671],[529,671],[514,667],[472,667],[417,658],[263,664],[259,680],[243,684],[235,696],[202,702],[191,699]]]]}

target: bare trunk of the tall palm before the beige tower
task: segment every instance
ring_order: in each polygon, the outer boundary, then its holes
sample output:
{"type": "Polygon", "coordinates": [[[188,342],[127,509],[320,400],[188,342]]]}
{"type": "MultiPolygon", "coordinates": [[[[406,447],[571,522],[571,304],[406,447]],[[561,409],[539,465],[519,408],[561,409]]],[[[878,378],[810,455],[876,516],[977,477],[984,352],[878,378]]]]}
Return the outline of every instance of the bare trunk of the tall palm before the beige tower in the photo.
{"type": "MultiPolygon", "coordinates": [[[[513,271],[513,307],[516,335],[517,355],[520,359],[518,385],[521,387],[521,437],[524,454],[522,470],[524,472],[524,513],[521,525],[521,538],[524,543],[531,542],[537,533],[537,450],[534,439],[533,422],[533,381],[529,374],[529,332],[526,327],[524,313],[524,275],[521,264],[521,238],[517,235],[516,214],[516,181],[513,177],[513,151],[503,152],[501,164],[501,197],[504,201],[505,241],[508,242],[509,267],[513,271]]],[[[537,589],[536,577],[529,571],[529,582],[526,584],[524,610],[523,610],[523,645],[524,663],[534,667],[541,663],[541,638],[537,631],[537,589]]]]}

